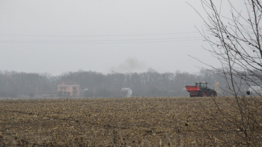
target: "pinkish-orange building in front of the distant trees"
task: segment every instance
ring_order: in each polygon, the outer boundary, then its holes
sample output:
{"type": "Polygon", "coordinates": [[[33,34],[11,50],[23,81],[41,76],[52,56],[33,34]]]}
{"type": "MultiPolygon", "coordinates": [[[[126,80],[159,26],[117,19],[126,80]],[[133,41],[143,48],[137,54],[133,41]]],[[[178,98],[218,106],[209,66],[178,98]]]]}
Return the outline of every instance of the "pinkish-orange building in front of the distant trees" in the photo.
{"type": "Polygon", "coordinates": [[[72,80],[64,80],[58,84],[58,93],[67,97],[79,97],[79,85],[72,80]]]}

